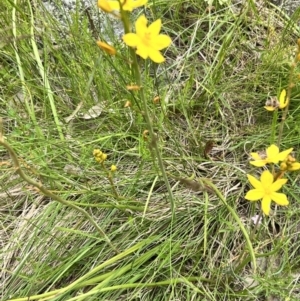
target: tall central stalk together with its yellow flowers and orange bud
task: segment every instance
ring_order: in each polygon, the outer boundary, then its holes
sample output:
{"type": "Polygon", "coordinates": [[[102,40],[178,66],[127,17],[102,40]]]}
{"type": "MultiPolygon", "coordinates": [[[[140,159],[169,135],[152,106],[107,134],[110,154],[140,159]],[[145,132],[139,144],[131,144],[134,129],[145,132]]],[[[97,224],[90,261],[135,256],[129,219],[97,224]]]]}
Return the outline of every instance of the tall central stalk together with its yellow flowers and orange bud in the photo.
{"type": "MultiPolygon", "coordinates": [[[[148,103],[145,96],[141,71],[137,61],[137,55],[143,59],[150,58],[154,63],[163,63],[165,58],[161,54],[161,50],[170,46],[172,40],[165,34],[160,34],[162,22],[160,19],[154,21],[148,26],[148,20],[145,15],[141,15],[135,22],[135,32],[131,32],[131,25],[128,12],[131,12],[137,7],[147,4],[148,0],[98,0],[98,7],[106,13],[115,14],[115,11],[120,11],[121,20],[123,22],[125,35],[123,36],[124,43],[129,46],[130,56],[132,60],[131,68],[135,80],[135,90],[138,91],[142,103],[143,117],[147,123],[147,131],[149,132],[149,147],[154,158],[157,158],[160,172],[164,178],[165,185],[168,190],[171,203],[172,218],[175,217],[175,203],[171,190],[171,186],[165,171],[162,154],[157,143],[157,135],[153,129],[152,118],[148,110],[148,103]]],[[[114,55],[114,48],[106,43],[99,43],[98,46],[110,55],[114,55]]],[[[130,88],[133,86],[130,85],[130,88]]]]}

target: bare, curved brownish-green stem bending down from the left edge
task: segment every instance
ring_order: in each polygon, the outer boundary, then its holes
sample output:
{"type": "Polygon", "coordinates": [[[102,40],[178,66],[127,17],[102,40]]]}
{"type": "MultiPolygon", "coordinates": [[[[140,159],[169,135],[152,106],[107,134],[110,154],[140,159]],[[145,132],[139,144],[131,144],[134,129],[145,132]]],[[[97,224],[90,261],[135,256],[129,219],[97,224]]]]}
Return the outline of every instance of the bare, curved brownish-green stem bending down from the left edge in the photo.
{"type": "Polygon", "coordinates": [[[71,207],[71,208],[77,210],[78,212],[80,212],[98,230],[98,232],[100,233],[100,235],[106,240],[106,242],[109,244],[109,246],[116,253],[119,253],[118,249],[112,244],[112,242],[110,241],[110,239],[108,238],[108,236],[104,233],[104,231],[100,228],[100,226],[94,221],[94,219],[92,218],[92,216],[89,215],[84,209],[82,209],[82,208],[74,205],[72,202],[68,202],[68,201],[62,199],[61,197],[59,197],[58,195],[52,193],[47,188],[45,188],[41,183],[36,182],[35,180],[33,180],[32,178],[30,178],[29,176],[27,176],[23,172],[23,170],[21,169],[21,166],[20,166],[20,163],[19,163],[19,160],[18,160],[16,152],[11,147],[11,145],[4,140],[4,138],[3,138],[3,136],[2,136],[1,133],[0,133],[0,145],[2,145],[9,152],[9,155],[10,155],[12,161],[13,161],[15,172],[25,182],[27,182],[27,183],[31,184],[32,186],[38,188],[44,195],[50,197],[51,199],[53,199],[53,200],[55,200],[55,201],[57,201],[57,202],[65,205],[65,206],[71,207]]]}

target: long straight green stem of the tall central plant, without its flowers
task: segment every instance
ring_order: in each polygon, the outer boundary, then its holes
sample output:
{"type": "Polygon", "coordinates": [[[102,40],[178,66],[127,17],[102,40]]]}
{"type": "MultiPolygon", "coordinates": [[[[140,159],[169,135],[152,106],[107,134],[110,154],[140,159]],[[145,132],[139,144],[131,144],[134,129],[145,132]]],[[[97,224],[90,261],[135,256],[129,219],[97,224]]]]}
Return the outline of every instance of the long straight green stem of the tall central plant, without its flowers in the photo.
{"type": "MultiPolygon", "coordinates": [[[[130,32],[130,22],[128,19],[128,15],[126,12],[124,12],[123,10],[121,11],[121,16],[122,16],[122,22],[124,25],[124,30],[125,33],[130,32]]],[[[164,163],[163,163],[163,159],[162,159],[162,155],[161,155],[161,151],[159,149],[159,146],[157,144],[157,136],[154,133],[153,130],[153,125],[152,125],[152,121],[150,118],[150,114],[148,111],[148,105],[147,105],[147,100],[145,97],[145,93],[144,93],[144,88],[142,85],[142,79],[141,79],[141,73],[140,73],[140,69],[139,69],[139,65],[138,65],[138,61],[137,61],[137,57],[136,57],[136,53],[134,51],[134,49],[130,48],[130,54],[131,54],[131,58],[133,60],[132,63],[132,72],[133,72],[133,76],[135,77],[136,80],[136,84],[140,87],[140,98],[142,100],[142,108],[143,108],[143,117],[147,123],[148,126],[148,130],[149,130],[149,134],[150,134],[150,151],[152,153],[152,149],[154,149],[155,151],[155,155],[157,157],[158,160],[158,166],[160,168],[160,171],[162,173],[165,185],[167,187],[167,191],[169,194],[169,199],[170,199],[170,204],[171,204],[171,211],[172,211],[172,220],[175,219],[175,202],[174,202],[174,197],[173,197],[173,193],[172,193],[172,189],[167,177],[167,173],[164,167],[164,163]]]]}

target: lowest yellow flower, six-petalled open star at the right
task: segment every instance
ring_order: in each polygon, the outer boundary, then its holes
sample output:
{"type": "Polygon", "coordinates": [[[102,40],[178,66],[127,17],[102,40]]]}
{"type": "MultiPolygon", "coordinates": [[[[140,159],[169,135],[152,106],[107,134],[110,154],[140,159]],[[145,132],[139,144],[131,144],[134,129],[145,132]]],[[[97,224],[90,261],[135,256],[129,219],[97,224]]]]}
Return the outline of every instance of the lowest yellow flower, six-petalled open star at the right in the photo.
{"type": "Polygon", "coordinates": [[[245,199],[248,201],[261,201],[261,208],[265,215],[269,215],[271,201],[277,205],[287,206],[289,201],[284,193],[278,191],[286,182],[287,179],[278,179],[274,182],[274,177],[270,171],[265,170],[260,177],[260,181],[251,175],[247,175],[249,182],[254,187],[247,192],[245,199]]]}

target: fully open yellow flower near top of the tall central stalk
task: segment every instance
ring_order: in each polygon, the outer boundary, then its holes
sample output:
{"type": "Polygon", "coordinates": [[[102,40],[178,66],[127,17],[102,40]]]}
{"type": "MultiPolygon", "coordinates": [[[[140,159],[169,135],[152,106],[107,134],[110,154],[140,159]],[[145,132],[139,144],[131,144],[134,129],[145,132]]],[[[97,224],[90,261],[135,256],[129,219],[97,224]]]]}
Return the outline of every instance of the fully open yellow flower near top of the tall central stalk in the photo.
{"type": "Polygon", "coordinates": [[[155,63],[162,63],[165,58],[160,50],[168,47],[172,40],[169,36],[159,34],[161,20],[158,19],[147,27],[148,20],[144,15],[135,22],[136,33],[127,33],[123,36],[126,45],[136,48],[136,54],[143,59],[150,57],[155,63]]]}

